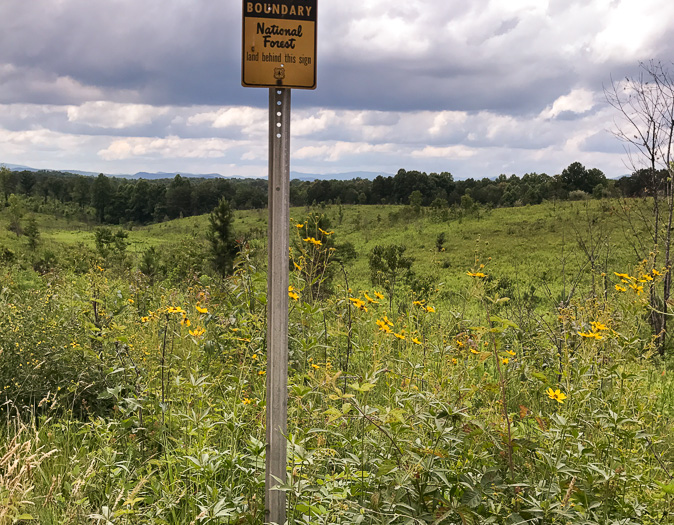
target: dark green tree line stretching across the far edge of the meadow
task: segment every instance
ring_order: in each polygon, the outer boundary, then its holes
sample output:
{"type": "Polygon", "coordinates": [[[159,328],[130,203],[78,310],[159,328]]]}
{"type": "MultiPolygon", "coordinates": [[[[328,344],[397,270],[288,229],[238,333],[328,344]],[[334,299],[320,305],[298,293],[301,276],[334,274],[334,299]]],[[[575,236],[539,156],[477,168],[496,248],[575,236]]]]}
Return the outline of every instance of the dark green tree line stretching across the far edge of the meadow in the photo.
{"type": "MultiPolygon", "coordinates": [[[[454,180],[449,172],[424,173],[400,169],[394,176],[373,180],[293,180],[290,204],[410,204],[449,207],[470,200],[490,207],[539,204],[543,200],[640,196],[649,194],[660,174],[639,170],[609,180],[597,168],[574,162],[559,175],[527,173],[454,180]],[[462,200],[463,199],[463,200],[462,200]]],[[[662,174],[666,177],[666,174],[662,174]]],[[[133,221],[138,224],[201,215],[213,210],[221,198],[232,209],[264,208],[264,179],[188,178],[125,179],[75,175],[58,171],[10,171],[0,168],[0,195],[7,206],[12,194],[71,203],[89,209],[102,224],[133,221]]]]}

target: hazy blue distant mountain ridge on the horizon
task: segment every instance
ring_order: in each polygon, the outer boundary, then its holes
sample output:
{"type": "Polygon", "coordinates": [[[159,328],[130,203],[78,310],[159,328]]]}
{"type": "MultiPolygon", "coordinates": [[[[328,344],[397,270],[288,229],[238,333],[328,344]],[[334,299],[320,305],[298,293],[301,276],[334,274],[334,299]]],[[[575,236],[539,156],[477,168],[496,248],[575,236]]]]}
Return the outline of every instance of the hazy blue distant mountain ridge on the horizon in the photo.
{"type": "MultiPolygon", "coordinates": [[[[38,169],[31,168],[29,166],[22,166],[20,164],[7,164],[0,163],[0,166],[5,166],[6,168],[12,171],[58,171],[60,173],[73,173],[74,175],[85,175],[90,177],[96,177],[99,172],[96,171],[81,171],[81,170],[55,170],[55,169],[38,169]]],[[[157,179],[172,179],[176,175],[181,177],[193,178],[193,179],[244,179],[250,177],[243,177],[240,175],[222,175],[220,173],[184,173],[184,172],[147,172],[139,171],[133,175],[130,174],[110,174],[105,173],[104,175],[108,177],[121,177],[125,179],[147,179],[147,180],[157,180],[157,179]]],[[[382,173],[377,171],[347,171],[343,173],[303,173],[299,171],[291,171],[290,178],[293,180],[302,180],[302,181],[314,181],[314,180],[353,180],[353,179],[369,179],[372,180],[375,177],[382,175],[383,177],[393,176],[391,173],[382,173]]],[[[262,177],[265,178],[266,177],[262,177]]]]}

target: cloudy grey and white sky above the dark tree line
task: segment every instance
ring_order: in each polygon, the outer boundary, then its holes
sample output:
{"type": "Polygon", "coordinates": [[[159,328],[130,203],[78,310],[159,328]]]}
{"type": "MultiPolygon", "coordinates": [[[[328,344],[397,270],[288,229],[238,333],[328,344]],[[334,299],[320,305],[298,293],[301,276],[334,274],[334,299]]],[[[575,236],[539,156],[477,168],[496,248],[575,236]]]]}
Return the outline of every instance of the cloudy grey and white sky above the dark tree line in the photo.
{"type": "MultiPolygon", "coordinates": [[[[628,172],[603,86],[674,59],[671,0],[319,0],[291,169],[628,172]]],[[[0,163],[266,176],[239,0],[0,0],[0,163]]]]}

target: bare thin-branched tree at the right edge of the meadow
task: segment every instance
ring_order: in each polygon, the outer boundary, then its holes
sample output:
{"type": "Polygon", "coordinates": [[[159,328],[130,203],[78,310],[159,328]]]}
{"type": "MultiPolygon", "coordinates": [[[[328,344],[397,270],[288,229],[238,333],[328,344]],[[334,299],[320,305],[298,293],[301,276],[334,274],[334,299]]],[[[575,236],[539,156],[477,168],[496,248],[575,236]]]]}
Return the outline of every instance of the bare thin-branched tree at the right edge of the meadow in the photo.
{"type": "MultiPolygon", "coordinates": [[[[644,198],[651,200],[652,214],[644,216],[643,222],[653,244],[648,247],[649,253],[637,252],[642,259],[651,259],[654,268],[662,264],[666,269],[662,285],[653,286],[650,295],[650,324],[660,354],[664,355],[672,282],[674,76],[668,66],[659,61],[639,65],[641,71],[636,77],[620,82],[611,79],[610,86],[604,88],[604,95],[618,112],[613,134],[625,145],[628,169],[647,176],[644,198]]],[[[645,248],[643,243],[640,245],[645,248]]]]}

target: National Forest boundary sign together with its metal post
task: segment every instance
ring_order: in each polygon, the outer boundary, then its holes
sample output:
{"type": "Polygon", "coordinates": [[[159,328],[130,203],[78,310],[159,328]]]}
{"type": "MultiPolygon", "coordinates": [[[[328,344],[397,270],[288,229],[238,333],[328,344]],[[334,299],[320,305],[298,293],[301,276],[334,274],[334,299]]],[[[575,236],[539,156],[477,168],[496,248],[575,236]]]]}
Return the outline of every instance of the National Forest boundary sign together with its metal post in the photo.
{"type": "Polygon", "coordinates": [[[288,419],[290,88],[316,87],[317,0],[243,0],[241,84],[269,88],[265,523],[284,525],[288,419]]]}

